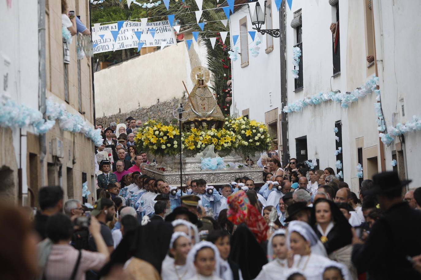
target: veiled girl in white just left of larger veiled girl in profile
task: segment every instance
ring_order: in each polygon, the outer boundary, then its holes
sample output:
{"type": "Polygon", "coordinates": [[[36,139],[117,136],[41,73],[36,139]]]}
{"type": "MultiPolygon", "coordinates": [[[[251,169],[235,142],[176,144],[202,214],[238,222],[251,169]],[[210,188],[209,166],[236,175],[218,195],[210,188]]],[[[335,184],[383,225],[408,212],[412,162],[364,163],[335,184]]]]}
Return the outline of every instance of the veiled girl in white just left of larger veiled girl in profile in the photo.
{"type": "Polygon", "coordinates": [[[255,280],[284,279],[288,270],[288,248],[286,245],[286,232],[284,229],[275,230],[267,243],[268,264],[262,267],[255,280]]]}

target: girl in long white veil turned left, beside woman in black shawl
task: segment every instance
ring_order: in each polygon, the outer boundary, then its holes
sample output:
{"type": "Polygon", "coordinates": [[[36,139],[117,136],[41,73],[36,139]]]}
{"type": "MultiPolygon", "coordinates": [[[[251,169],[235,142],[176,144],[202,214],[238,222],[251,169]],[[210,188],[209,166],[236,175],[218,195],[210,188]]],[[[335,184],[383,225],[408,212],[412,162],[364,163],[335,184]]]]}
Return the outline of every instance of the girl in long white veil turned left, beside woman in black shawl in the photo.
{"type": "MultiPolygon", "coordinates": [[[[327,258],[323,244],[306,222],[292,221],[288,225],[288,267],[300,271],[306,280],[320,280],[322,269],[333,261],[327,258]]],[[[344,279],[348,280],[348,270],[344,279]]]]}

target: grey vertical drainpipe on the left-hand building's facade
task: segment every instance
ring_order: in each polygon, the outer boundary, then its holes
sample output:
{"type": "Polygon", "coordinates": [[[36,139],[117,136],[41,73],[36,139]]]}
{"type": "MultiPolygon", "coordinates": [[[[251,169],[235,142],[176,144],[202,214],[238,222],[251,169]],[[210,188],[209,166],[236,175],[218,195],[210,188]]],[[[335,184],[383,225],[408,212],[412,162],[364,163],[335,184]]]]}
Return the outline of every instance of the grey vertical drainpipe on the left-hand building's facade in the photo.
{"type": "MultiPolygon", "coordinates": [[[[45,88],[46,88],[46,72],[45,72],[45,0],[38,0],[38,59],[39,59],[39,82],[38,82],[38,98],[40,111],[45,118],[45,88]]],[[[44,159],[47,154],[47,136],[45,133],[40,134],[40,165],[41,165],[41,186],[45,186],[44,177],[44,159]]]]}

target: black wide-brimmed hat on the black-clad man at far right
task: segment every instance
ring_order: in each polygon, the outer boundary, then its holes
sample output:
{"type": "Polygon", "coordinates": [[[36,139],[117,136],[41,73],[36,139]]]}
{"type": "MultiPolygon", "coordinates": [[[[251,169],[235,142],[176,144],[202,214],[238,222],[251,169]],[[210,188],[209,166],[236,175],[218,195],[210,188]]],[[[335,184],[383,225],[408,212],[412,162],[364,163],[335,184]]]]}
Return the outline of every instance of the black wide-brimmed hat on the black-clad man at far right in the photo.
{"type": "Polygon", "coordinates": [[[373,188],[368,192],[370,194],[384,194],[390,191],[402,189],[403,186],[408,185],[412,180],[400,181],[399,175],[393,171],[378,173],[373,176],[373,188]]]}

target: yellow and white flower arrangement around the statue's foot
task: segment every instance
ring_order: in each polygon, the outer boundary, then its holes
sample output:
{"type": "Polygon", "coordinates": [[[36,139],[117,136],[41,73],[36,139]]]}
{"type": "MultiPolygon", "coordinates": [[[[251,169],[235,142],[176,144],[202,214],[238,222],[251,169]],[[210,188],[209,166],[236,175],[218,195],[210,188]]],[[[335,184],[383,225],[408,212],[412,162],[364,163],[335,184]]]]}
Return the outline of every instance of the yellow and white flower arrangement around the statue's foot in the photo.
{"type": "Polygon", "coordinates": [[[272,139],[264,123],[247,118],[225,118],[224,128],[191,128],[181,133],[179,127],[163,124],[158,120],[149,120],[139,128],[135,141],[139,151],[157,155],[174,155],[179,153],[179,145],[184,152],[197,154],[208,145],[214,145],[220,154],[229,154],[238,150],[245,157],[255,152],[270,149],[272,139]]]}

